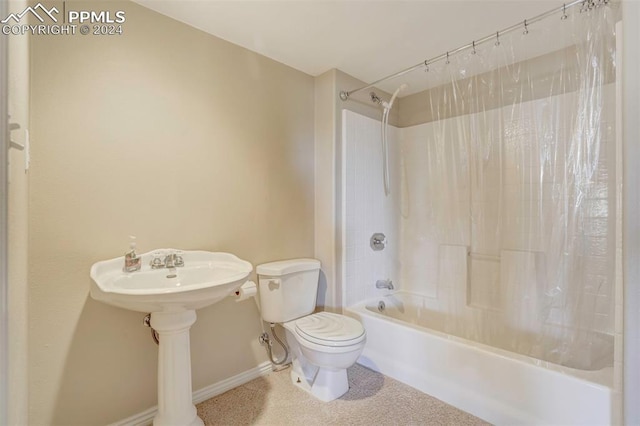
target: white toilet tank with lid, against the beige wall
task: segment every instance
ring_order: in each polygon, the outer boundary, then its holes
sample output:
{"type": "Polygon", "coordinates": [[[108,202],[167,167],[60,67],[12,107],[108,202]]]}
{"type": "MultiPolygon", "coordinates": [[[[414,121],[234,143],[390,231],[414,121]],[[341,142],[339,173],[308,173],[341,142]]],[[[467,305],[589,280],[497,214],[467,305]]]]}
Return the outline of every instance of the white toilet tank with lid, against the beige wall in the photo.
{"type": "Polygon", "coordinates": [[[316,308],[319,260],[291,259],[264,263],[258,265],[256,273],[263,320],[274,323],[292,321],[316,308]]]}

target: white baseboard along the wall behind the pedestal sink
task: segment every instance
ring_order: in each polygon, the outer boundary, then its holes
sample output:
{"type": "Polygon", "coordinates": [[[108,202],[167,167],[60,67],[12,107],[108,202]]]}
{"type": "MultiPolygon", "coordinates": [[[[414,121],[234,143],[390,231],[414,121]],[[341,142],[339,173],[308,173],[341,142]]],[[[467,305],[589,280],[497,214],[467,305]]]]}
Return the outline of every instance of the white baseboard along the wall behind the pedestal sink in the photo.
{"type": "MultiPolygon", "coordinates": [[[[272,371],[271,363],[265,361],[257,367],[251,370],[244,371],[240,374],[236,374],[233,377],[219,381],[202,389],[193,392],[193,403],[199,404],[202,401],[213,398],[216,395],[220,395],[228,390],[250,382],[258,377],[265,376],[272,371]]],[[[158,413],[158,406],[151,407],[148,410],[142,411],[133,416],[127,417],[115,423],[111,423],[109,426],[146,426],[153,423],[153,418],[158,413]]]]}

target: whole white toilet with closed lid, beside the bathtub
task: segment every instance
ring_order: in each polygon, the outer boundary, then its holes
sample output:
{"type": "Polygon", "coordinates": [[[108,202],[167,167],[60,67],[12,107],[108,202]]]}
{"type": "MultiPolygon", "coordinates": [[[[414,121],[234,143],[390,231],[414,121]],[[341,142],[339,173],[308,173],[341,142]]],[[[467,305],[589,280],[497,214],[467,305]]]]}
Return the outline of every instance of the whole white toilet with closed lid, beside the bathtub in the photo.
{"type": "Polygon", "coordinates": [[[259,265],[258,294],[262,319],[281,324],[291,349],[291,380],[322,401],[349,390],[347,368],[364,349],[360,322],[316,307],[320,261],[292,259],[259,265]]]}

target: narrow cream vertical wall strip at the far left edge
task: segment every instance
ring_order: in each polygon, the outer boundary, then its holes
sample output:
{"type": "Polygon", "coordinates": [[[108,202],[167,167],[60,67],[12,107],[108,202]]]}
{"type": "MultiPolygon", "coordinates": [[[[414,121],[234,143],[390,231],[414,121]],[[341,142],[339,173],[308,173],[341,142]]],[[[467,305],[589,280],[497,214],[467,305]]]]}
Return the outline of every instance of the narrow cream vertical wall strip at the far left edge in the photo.
{"type": "MultiPolygon", "coordinates": [[[[12,0],[10,12],[21,12],[26,1],[12,0]]],[[[11,139],[24,144],[29,129],[29,39],[9,37],[9,122],[20,129],[11,139]]],[[[9,401],[10,425],[27,424],[27,208],[25,151],[9,150],[9,401]]]]}

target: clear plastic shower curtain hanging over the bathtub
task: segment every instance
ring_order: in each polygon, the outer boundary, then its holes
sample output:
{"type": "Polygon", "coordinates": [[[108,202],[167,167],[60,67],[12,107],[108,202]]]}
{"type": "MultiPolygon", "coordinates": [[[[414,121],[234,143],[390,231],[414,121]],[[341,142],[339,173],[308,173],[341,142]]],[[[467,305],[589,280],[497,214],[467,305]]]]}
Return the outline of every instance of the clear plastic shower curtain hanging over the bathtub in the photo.
{"type": "Polygon", "coordinates": [[[621,244],[602,3],[431,64],[420,140],[400,143],[403,176],[425,181],[401,183],[402,235],[436,248],[446,331],[587,370],[613,363],[621,244]]]}

